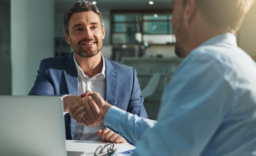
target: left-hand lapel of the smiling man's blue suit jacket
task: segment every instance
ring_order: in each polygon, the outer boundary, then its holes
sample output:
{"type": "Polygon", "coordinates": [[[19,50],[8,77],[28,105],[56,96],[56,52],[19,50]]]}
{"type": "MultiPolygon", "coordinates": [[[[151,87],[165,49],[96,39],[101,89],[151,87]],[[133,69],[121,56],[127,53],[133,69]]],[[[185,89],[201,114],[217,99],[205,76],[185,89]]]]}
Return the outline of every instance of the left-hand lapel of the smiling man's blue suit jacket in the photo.
{"type": "Polygon", "coordinates": [[[66,79],[66,86],[68,87],[68,94],[78,95],[78,75],[73,59],[73,52],[68,55],[63,71],[66,79]]]}

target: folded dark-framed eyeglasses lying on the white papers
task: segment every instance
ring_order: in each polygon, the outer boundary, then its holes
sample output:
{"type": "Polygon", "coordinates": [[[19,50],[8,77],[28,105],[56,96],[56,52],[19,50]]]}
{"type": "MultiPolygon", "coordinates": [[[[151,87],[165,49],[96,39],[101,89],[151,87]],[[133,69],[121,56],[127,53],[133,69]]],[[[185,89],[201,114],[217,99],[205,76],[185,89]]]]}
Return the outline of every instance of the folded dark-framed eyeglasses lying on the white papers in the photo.
{"type": "Polygon", "coordinates": [[[98,148],[96,148],[94,156],[111,156],[114,154],[115,150],[113,150],[113,146],[115,146],[116,142],[113,142],[113,144],[111,143],[107,143],[103,146],[98,146],[98,148]]]}

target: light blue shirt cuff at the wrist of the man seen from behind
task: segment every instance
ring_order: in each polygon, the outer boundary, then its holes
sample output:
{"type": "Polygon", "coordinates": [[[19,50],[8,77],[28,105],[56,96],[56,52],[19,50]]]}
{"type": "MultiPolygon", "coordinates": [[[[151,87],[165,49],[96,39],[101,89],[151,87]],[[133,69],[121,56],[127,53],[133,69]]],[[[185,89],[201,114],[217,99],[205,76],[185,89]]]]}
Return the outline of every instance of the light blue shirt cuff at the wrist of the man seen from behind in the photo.
{"type": "Polygon", "coordinates": [[[117,131],[118,122],[125,113],[127,112],[116,106],[111,106],[104,117],[104,125],[117,131]]]}

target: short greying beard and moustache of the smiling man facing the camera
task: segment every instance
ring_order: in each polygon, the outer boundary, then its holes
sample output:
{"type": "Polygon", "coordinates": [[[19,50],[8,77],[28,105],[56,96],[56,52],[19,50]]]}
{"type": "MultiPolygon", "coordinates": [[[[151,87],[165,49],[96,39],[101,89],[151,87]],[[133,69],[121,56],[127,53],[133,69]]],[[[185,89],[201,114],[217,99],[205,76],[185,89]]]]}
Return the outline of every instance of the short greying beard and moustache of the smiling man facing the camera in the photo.
{"type": "MultiPolygon", "coordinates": [[[[93,41],[93,39],[82,39],[81,41],[78,41],[78,44],[74,44],[72,43],[71,46],[73,48],[73,51],[75,53],[77,53],[77,55],[79,55],[80,57],[93,57],[95,55],[98,54],[98,52],[100,52],[101,48],[102,48],[102,43],[101,44],[98,44],[98,47],[96,50],[93,50],[91,51],[89,48],[88,50],[84,50],[81,46],[80,46],[80,43],[83,42],[83,41],[93,41]]],[[[98,43],[98,42],[96,42],[98,43]]]]}

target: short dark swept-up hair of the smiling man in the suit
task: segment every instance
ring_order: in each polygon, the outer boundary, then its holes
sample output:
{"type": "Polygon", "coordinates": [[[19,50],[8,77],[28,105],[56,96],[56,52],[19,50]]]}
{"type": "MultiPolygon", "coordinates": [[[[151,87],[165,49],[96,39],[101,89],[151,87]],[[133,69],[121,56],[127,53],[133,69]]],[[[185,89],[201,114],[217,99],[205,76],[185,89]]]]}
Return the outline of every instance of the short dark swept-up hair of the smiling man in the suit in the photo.
{"type": "Polygon", "coordinates": [[[64,32],[66,32],[66,34],[68,35],[68,24],[72,14],[79,13],[79,12],[89,12],[89,11],[93,11],[96,14],[98,14],[98,16],[100,17],[101,26],[103,27],[104,23],[98,8],[89,1],[78,1],[77,3],[74,4],[73,8],[66,11],[64,15],[64,18],[63,18],[64,32]]]}

